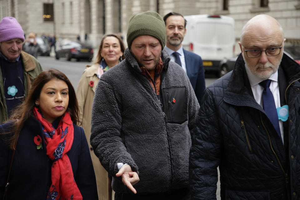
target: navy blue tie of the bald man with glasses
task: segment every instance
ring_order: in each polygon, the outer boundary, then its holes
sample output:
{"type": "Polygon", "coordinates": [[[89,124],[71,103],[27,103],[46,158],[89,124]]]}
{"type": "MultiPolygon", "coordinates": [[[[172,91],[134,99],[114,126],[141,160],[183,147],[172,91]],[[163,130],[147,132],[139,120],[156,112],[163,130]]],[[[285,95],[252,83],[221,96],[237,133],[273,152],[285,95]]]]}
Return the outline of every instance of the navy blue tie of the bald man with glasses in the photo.
{"type": "Polygon", "coordinates": [[[275,130],[277,131],[279,137],[281,138],[279,122],[278,122],[278,114],[275,106],[274,97],[270,90],[271,81],[272,80],[267,79],[259,83],[259,85],[264,88],[262,91],[262,104],[263,104],[263,109],[265,110],[268,118],[272,122],[275,130]]]}

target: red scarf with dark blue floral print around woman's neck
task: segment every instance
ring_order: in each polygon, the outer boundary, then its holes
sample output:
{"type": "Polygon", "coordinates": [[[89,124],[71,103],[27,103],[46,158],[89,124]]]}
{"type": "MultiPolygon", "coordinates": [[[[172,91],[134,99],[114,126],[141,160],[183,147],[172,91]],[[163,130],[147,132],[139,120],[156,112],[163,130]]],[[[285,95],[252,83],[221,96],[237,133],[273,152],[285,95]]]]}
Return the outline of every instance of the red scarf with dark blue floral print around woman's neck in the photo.
{"type": "Polygon", "coordinates": [[[53,161],[51,168],[52,183],[47,194],[47,200],[82,200],[67,155],[74,139],[74,127],[70,113],[63,114],[57,129],[54,129],[52,124],[42,117],[37,108],[33,109],[33,114],[42,123],[47,156],[53,161]]]}

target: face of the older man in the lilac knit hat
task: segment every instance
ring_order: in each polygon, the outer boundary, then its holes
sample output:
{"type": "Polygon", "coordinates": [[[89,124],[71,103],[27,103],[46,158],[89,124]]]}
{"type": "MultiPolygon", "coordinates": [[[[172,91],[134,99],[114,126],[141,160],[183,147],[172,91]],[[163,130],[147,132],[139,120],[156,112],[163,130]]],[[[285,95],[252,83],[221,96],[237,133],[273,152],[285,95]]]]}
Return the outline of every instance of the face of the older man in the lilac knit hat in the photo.
{"type": "Polygon", "coordinates": [[[19,38],[3,41],[0,43],[2,54],[11,62],[15,61],[22,51],[23,41],[19,38]]]}

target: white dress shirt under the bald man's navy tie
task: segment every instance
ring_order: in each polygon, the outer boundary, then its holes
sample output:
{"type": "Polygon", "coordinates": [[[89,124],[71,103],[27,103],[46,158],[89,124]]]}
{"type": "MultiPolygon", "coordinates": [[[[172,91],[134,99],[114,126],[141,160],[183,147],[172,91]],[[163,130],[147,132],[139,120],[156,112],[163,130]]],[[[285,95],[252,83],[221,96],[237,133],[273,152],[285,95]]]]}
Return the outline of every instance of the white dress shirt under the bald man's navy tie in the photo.
{"type": "MultiPolygon", "coordinates": [[[[250,72],[250,69],[247,67],[247,65],[245,64],[245,68],[246,68],[246,72],[247,72],[247,76],[251,85],[251,89],[252,89],[252,93],[254,96],[255,101],[263,108],[263,104],[262,104],[262,91],[263,91],[263,87],[260,86],[258,83],[266,80],[266,78],[259,78],[256,75],[252,74],[250,72]]],[[[274,74],[272,74],[272,76],[270,78],[267,78],[272,80],[271,84],[270,84],[270,90],[273,94],[274,97],[274,101],[275,101],[275,106],[276,108],[280,107],[280,96],[279,96],[279,85],[278,85],[278,71],[276,71],[274,74]]],[[[279,120],[279,128],[280,128],[280,133],[281,133],[281,138],[282,138],[282,142],[283,141],[283,123],[280,119],[279,120]]]]}

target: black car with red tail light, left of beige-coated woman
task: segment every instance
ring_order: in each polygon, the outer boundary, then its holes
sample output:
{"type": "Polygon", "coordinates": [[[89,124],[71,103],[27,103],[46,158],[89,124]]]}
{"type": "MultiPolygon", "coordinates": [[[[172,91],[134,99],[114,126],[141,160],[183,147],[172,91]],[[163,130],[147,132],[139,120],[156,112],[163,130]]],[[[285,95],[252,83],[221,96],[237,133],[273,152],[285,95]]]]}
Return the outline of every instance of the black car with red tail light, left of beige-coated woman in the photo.
{"type": "Polygon", "coordinates": [[[70,61],[72,58],[75,58],[77,61],[80,59],[85,59],[91,61],[93,58],[93,48],[92,46],[75,42],[67,39],[63,39],[60,42],[57,42],[55,58],[66,58],[70,61]]]}

